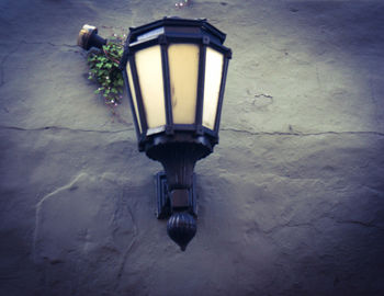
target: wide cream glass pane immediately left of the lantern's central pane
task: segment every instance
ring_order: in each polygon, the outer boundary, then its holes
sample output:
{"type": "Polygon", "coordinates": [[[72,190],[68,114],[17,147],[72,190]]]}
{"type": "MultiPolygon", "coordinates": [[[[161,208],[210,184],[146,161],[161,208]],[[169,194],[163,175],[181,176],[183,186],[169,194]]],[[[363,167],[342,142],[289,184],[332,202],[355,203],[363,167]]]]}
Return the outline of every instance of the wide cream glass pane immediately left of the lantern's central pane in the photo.
{"type": "Polygon", "coordinates": [[[160,46],[137,52],[135,60],[148,128],[166,125],[160,46]]]}

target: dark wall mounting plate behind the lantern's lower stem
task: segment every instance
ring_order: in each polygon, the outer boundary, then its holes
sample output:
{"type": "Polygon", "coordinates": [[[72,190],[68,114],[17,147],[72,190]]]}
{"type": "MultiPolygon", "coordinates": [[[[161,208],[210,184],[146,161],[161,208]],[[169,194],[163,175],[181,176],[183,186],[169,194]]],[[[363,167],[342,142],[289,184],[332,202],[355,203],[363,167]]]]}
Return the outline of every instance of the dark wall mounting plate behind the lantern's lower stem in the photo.
{"type": "MultiPolygon", "coordinates": [[[[171,205],[171,193],[168,189],[167,175],[163,171],[158,172],[156,179],[156,195],[157,195],[157,210],[156,217],[158,219],[167,219],[172,215],[173,209],[178,206],[177,204],[171,205]]],[[[196,175],[193,174],[192,186],[188,189],[188,206],[189,212],[194,217],[197,217],[197,203],[196,203],[196,191],[195,191],[196,175]]]]}

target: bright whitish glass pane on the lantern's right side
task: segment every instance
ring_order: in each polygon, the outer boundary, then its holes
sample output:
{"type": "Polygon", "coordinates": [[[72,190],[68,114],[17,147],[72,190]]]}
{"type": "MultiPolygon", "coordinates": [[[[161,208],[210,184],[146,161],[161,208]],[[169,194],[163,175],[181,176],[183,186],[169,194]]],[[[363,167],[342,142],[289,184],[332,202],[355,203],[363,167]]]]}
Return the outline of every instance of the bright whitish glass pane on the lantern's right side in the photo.
{"type": "Polygon", "coordinates": [[[203,126],[214,129],[218,92],[221,90],[224,56],[219,52],[206,48],[203,126]]]}

